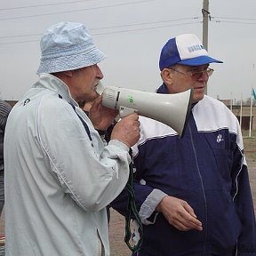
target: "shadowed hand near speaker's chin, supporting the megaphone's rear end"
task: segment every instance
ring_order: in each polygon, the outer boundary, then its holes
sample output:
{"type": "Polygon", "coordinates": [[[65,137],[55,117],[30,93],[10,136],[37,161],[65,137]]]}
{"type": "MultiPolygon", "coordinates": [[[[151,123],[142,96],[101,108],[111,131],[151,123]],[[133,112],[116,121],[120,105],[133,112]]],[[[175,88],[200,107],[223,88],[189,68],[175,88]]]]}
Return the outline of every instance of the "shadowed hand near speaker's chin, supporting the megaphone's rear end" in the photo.
{"type": "Polygon", "coordinates": [[[92,102],[92,107],[89,111],[89,117],[95,129],[105,131],[110,124],[114,122],[118,114],[117,110],[105,108],[101,104],[102,96],[99,96],[92,102]]]}

